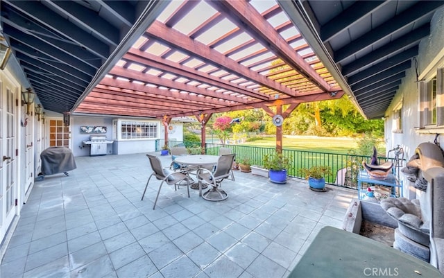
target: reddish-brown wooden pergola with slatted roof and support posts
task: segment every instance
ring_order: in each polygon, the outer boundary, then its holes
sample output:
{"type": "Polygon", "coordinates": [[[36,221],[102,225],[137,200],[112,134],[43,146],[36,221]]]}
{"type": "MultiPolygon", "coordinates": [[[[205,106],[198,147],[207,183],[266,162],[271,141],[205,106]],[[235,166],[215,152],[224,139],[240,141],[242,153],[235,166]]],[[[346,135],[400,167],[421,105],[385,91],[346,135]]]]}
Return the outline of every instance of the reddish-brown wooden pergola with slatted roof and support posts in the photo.
{"type": "MultiPolygon", "coordinates": [[[[300,103],[340,98],[278,3],[262,4],[169,3],[74,112],[154,117],[166,127],[173,117],[194,115],[205,128],[216,112],[262,108],[285,119],[300,103]]],[[[282,150],[281,126],[276,135],[282,150]]]]}

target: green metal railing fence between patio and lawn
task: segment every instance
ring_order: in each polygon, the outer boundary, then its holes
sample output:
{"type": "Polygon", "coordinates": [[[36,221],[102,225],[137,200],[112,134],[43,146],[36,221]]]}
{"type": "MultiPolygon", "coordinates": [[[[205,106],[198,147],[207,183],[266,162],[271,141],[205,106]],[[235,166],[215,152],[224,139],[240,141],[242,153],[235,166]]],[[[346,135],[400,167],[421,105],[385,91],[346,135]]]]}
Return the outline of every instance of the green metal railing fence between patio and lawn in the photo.
{"type": "MultiPolygon", "coordinates": [[[[200,146],[200,143],[187,142],[169,142],[171,146],[183,144],[180,146],[195,147],[200,146]]],[[[160,147],[163,144],[159,145],[160,147]]],[[[251,165],[262,166],[262,157],[266,154],[275,153],[275,148],[253,147],[244,145],[223,145],[207,143],[205,144],[205,153],[207,155],[219,155],[219,148],[231,148],[232,152],[236,154],[236,160],[240,161],[243,158],[248,158],[251,165]]],[[[160,150],[160,148],[158,149],[160,150]]],[[[322,165],[330,166],[332,173],[325,176],[325,181],[328,184],[336,186],[348,187],[350,189],[357,189],[357,176],[359,170],[362,168],[362,162],[370,162],[371,157],[368,155],[343,155],[337,153],[319,153],[305,150],[282,150],[284,157],[291,157],[291,166],[287,169],[289,177],[305,178],[299,172],[300,168],[309,168],[311,166],[322,165]]],[[[379,163],[392,161],[395,164],[394,158],[378,157],[379,163]]],[[[396,165],[396,164],[395,164],[396,165]]],[[[393,168],[393,171],[399,169],[393,168]]]]}

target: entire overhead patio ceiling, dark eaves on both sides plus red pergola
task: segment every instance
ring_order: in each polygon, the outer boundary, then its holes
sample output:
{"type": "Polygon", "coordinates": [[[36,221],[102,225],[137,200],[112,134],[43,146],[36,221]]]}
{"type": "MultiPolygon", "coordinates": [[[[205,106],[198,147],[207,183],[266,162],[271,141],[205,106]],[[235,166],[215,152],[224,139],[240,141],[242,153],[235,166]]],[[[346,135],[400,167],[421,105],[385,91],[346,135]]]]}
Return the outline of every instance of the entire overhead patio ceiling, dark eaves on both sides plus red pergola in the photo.
{"type": "Polygon", "coordinates": [[[343,89],[377,118],[441,5],[2,0],[0,8],[3,34],[46,110],[189,116],[298,105],[343,89]]]}

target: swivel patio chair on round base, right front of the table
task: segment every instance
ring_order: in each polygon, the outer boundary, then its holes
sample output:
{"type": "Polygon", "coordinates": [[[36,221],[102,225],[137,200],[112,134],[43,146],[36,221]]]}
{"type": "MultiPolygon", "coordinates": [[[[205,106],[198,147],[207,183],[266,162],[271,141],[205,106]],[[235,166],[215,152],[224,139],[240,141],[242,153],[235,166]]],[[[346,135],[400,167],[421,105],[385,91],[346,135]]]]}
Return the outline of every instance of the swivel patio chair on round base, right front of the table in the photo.
{"type": "Polygon", "coordinates": [[[228,193],[220,189],[220,187],[221,182],[230,177],[230,170],[235,156],[236,155],[234,153],[230,155],[221,155],[217,161],[214,171],[199,168],[197,174],[199,182],[212,186],[211,189],[208,189],[208,191],[203,193],[202,198],[209,201],[221,201],[228,198],[228,193]]]}

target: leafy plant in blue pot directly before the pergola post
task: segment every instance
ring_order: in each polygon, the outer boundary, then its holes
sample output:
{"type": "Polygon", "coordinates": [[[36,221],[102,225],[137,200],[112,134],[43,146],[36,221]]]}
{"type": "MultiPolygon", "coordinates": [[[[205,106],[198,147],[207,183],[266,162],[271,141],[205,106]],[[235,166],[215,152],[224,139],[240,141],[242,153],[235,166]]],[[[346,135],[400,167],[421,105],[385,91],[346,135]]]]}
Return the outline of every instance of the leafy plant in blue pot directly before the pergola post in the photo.
{"type": "Polygon", "coordinates": [[[271,182],[277,184],[287,182],[287,169],[290,167],[290,160],[291,158],[284,157],[282,153],[278,152],[264,155],[264,167],[268,169],[268,176],[271,182]]]}

